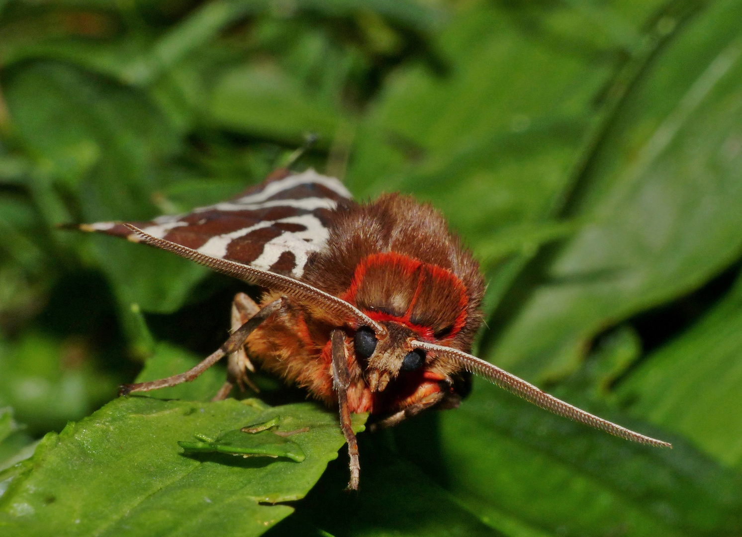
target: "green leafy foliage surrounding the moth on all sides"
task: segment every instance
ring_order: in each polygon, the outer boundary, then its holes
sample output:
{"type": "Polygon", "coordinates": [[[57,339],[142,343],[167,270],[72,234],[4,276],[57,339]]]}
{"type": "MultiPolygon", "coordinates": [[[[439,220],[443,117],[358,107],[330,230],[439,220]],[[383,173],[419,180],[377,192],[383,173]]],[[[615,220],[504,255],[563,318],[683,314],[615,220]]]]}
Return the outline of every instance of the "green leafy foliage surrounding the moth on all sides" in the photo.
{"type": "Polygon", "coordinates": [[[3,536],[742,533],[741,0],[3,0],[0,91],[3,536]],[[349,495],[334,413],[274,378],[116,399],[255,289],[56,226],[221,200],[309,131],[297,168],[473,248],[479,356],[674,449],[476,381],[361,433],[349,495]],[[305,461],[177,447],[276,415],[305,461]]]}

